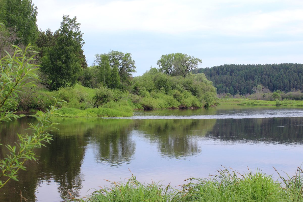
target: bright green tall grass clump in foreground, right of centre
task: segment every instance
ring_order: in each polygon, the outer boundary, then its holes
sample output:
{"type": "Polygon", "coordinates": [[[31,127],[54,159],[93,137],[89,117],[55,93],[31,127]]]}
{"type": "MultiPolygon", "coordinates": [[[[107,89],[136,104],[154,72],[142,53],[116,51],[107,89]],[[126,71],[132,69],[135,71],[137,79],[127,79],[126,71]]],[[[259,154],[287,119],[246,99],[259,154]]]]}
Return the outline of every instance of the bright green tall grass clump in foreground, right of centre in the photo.
{"type": "Polygon", "coordinates": [[[210,179],[188,179],[183,185],[180,201],[283,201],[285,190],[271,176],[256,170],[239,174],[229,169],[220,170],[210,179]]]}

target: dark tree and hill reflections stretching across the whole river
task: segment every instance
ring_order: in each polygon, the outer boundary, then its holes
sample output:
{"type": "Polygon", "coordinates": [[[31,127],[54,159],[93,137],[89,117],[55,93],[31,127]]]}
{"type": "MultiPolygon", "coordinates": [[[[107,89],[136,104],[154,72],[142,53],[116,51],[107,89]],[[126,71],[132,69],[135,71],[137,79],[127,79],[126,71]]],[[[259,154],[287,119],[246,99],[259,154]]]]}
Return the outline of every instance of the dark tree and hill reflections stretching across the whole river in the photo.
{"type": "MultiPolygon", "coordinates": [[[[17,133],[24,133],[27,123],[35,118],[0,124],[3,144],[14,144],[17,133]]],[[[57,121],[57,120],[55,120],[57,121]]],[[[38,149],[37,162],[27,162],[27,171],[20,171],[20,182],[10,180],[0,193],[0,201],[20,200],[22,194],[35,201],[35,190],[41,180],[58,184],[61,197],[68,192],[78,194],[82,187],[81,164],[88,148],[93,147],[95,158],[102,164],[117,166],[132,159],[135,142],[134,129],[156,144],[161,155],[170,158],[188,157],[199,152],[199,137],[213,137],[222,141],[263,140],[290,143],[303,140],[301,118],[262,119],[58,119],[60,131],[47,148],[38,149]],[[279,127],[285,126],[285,127],[279,127]]],[[[27,131],[30,132],[30,131],[27,131]]],[[[0,147],[0,158],[7,153],[0,147]]]]}

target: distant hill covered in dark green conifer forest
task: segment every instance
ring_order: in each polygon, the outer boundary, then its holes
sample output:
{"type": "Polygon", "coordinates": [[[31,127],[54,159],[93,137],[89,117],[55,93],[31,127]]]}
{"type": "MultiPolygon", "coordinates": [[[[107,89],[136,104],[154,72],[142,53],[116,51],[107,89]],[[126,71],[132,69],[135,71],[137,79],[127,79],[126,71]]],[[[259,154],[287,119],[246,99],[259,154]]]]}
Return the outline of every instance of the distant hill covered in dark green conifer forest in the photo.
{"type": "Polygon", "coordinates": [[[270,91],[289,92],[303,89],[303,64],[220,65],[199,68],[192,73],[204,73],[217,88],[217,93],[253,93],[261,84],[270,91]]]}

